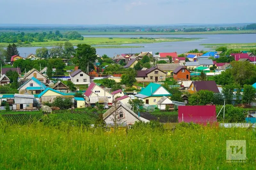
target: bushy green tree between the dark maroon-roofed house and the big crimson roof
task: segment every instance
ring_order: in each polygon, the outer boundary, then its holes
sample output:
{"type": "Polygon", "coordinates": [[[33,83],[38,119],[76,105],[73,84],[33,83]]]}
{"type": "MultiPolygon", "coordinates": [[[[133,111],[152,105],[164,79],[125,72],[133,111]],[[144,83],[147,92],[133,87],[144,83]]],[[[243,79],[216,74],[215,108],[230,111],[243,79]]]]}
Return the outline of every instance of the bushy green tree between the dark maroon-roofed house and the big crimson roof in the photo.
{"type": "Polygon", "coordinates": [[[213,92],[209,90],[199,90],[188,97],[190,105],[205,105],[213,102],[213,92]]]}

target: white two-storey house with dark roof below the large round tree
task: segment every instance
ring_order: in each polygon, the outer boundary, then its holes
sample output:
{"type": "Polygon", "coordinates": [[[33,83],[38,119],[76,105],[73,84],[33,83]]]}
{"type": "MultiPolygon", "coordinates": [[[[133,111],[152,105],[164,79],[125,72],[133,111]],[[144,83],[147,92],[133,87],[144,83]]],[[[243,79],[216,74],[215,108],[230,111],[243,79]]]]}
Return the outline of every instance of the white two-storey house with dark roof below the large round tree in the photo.
{"type": "Polygon", "coordinates": [[[90,77],[80,69],[73,71],[70,74],[70,79],[74,84],[90,84],[93,81],[93,77],[90,77]]]}

